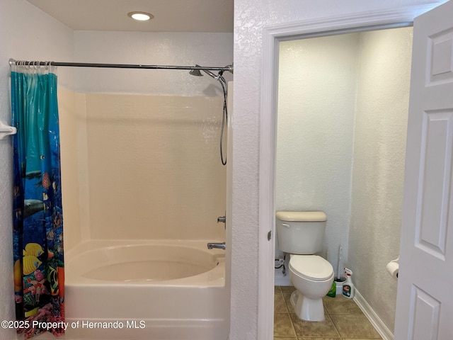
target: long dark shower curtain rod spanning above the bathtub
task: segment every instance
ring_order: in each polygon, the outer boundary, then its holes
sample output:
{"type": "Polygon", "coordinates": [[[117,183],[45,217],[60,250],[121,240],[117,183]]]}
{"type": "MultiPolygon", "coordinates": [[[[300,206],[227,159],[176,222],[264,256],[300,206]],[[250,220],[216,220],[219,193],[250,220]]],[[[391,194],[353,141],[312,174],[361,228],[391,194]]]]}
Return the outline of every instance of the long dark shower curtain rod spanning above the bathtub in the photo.
{"type": "Polygon", "coordinates": [[[24,61],[24,60],[9,60],[9,66],[15,65],[25,66],[60,66],[60,67],[101,67],[111,69],[210,69],[211,71],[229,71],[233,73],[233,65],[224,67],[211,66],[166,66],[166,65],[143,65],[143,64],[96,64],[91,62],[39,62],[39,61],[24,61]]]}

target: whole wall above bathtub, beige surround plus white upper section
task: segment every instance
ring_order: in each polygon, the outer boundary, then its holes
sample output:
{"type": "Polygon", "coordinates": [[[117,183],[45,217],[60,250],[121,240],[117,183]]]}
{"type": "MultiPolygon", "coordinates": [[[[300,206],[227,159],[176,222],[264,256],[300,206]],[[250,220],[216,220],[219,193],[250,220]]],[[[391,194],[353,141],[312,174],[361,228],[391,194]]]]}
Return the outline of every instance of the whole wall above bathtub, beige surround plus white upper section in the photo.
{"type": "MultiPolygon", "coordinates": [[[[233,35],[76,31],[74,51],[77,62],[225,66],[233,35]]],[[[60,92],[69,130],[62,167],[72,171],[66,196],[79,203],[65,210],[66,246],[100,238],[224,239],[217,81],[185,70],[79,67],[71,91],[60,92]],[[69,159],[74,154],[77,162],[69,159]]]]}

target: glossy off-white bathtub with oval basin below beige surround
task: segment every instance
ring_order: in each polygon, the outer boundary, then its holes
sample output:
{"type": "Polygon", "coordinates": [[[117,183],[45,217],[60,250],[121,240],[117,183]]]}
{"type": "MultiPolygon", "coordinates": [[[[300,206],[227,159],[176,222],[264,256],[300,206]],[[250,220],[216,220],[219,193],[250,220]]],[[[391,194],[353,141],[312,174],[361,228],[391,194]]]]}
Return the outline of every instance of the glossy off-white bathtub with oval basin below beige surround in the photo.
{"type": "Polygon", "coordinates": [[[225,253],[205,241],[92,240],[65,254],[65,339],[225,340],[225,253]]]}

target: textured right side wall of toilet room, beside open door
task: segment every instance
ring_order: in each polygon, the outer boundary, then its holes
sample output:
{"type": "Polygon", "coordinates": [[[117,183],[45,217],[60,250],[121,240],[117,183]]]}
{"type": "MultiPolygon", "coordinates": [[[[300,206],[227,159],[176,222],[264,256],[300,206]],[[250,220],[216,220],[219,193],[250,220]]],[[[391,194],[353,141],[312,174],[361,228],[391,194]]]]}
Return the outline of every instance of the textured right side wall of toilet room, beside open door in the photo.
{"type": "Polygon", "coordinates": [[[362,33],[349,264],[365,300],[393,331],[403,202],[412,28],[362,33]]]}

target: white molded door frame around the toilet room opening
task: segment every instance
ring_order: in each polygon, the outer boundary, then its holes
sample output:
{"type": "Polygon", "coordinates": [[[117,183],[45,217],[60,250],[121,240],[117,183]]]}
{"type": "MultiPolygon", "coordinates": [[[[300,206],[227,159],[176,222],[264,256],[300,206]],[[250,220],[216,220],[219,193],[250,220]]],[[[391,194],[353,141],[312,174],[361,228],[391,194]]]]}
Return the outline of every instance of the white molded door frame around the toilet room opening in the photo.
{"type": "Polygon", "coordinates": [[[413,18],[441,2],[365,11],[263,29],[260,91],[260,164],[258,229],[258,339],[273,339],[275,259],[275,149],[279,42],[365,30],[412,26],[413,18]],[[271,238],[268,238],[268,235],[271,238]]]}

